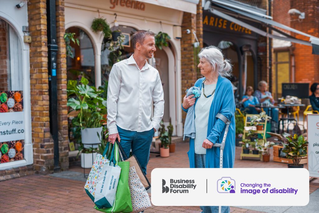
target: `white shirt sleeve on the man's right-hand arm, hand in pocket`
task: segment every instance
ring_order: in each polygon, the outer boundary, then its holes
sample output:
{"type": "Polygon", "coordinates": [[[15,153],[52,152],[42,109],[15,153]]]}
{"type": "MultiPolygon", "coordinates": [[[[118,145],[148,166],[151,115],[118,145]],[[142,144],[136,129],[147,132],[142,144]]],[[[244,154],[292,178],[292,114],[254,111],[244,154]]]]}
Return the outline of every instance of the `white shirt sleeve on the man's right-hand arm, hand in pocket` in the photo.
{"type": "Polygon", "coordinates": [[[154,101],[154,116],[152,118],[152,126],[156,131],[158,131],[159,122],[162,120],[164,115],[164,92],[159,73],[157,73],[155,87],[152,92],[152,99],[154,101]]]}

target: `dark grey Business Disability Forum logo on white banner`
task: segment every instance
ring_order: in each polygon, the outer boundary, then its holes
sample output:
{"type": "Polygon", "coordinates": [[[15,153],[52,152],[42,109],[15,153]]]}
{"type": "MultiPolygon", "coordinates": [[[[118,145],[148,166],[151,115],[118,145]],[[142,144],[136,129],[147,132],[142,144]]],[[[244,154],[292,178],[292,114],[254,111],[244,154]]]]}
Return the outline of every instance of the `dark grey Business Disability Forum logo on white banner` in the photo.
{"type": "Polygon", "coordinates": [[[185,194],[189,190],[196,188],[195,180],[169,179],[166,186],[166,180],[162,179],[162,193],[185,194]]]}

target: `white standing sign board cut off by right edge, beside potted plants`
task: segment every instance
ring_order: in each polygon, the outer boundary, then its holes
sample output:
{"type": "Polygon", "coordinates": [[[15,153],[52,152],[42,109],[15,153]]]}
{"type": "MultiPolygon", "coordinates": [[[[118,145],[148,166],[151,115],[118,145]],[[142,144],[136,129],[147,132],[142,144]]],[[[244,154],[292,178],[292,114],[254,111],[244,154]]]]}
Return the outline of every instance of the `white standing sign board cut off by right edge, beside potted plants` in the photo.
{"type": "Polygon", "coordinates": [[[319,115],[307,115],[308,170],[310,177],[319,178],[319,115]]]}

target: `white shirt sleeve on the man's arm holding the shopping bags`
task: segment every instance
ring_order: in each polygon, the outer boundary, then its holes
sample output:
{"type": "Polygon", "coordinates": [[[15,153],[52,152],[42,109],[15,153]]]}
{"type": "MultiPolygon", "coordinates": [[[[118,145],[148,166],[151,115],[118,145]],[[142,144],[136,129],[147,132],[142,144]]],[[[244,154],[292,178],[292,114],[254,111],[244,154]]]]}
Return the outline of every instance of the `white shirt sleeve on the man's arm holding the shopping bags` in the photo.
{"type": "Polygon", "coordinates": [[[116,65],[113,65],[108,77],[108,132],[109,134],[118,133],[116,126],[117,100],[121,88],[121,77],[116,65]]]}

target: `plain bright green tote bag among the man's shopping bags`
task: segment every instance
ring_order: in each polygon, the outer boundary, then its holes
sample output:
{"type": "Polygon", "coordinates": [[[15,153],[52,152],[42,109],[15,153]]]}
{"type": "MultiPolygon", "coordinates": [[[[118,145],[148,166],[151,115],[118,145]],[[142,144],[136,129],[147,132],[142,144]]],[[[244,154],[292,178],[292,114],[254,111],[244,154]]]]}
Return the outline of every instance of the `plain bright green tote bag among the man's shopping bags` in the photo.
{"type": "MultiPolygon", "coordinates": [[[[119,153],[118,145],[114,144],[114,154],[119,153]]],[[[116,155],[116,161],[119,161],[119,155],[116,155]]],[[[129,171],[130,171],[130,162],[128,161],[120,161],[118,162],[118,166],[121,167],[121,174],[119,183],[117,185],[117,190],[115,194],[115,201],[113,203],[113,207],[99,209],[97,206],[94,209],[106,212],[106,213],[129,213],[132,212],[132,200],[131,193],[129,187],[129,171]]]]}

